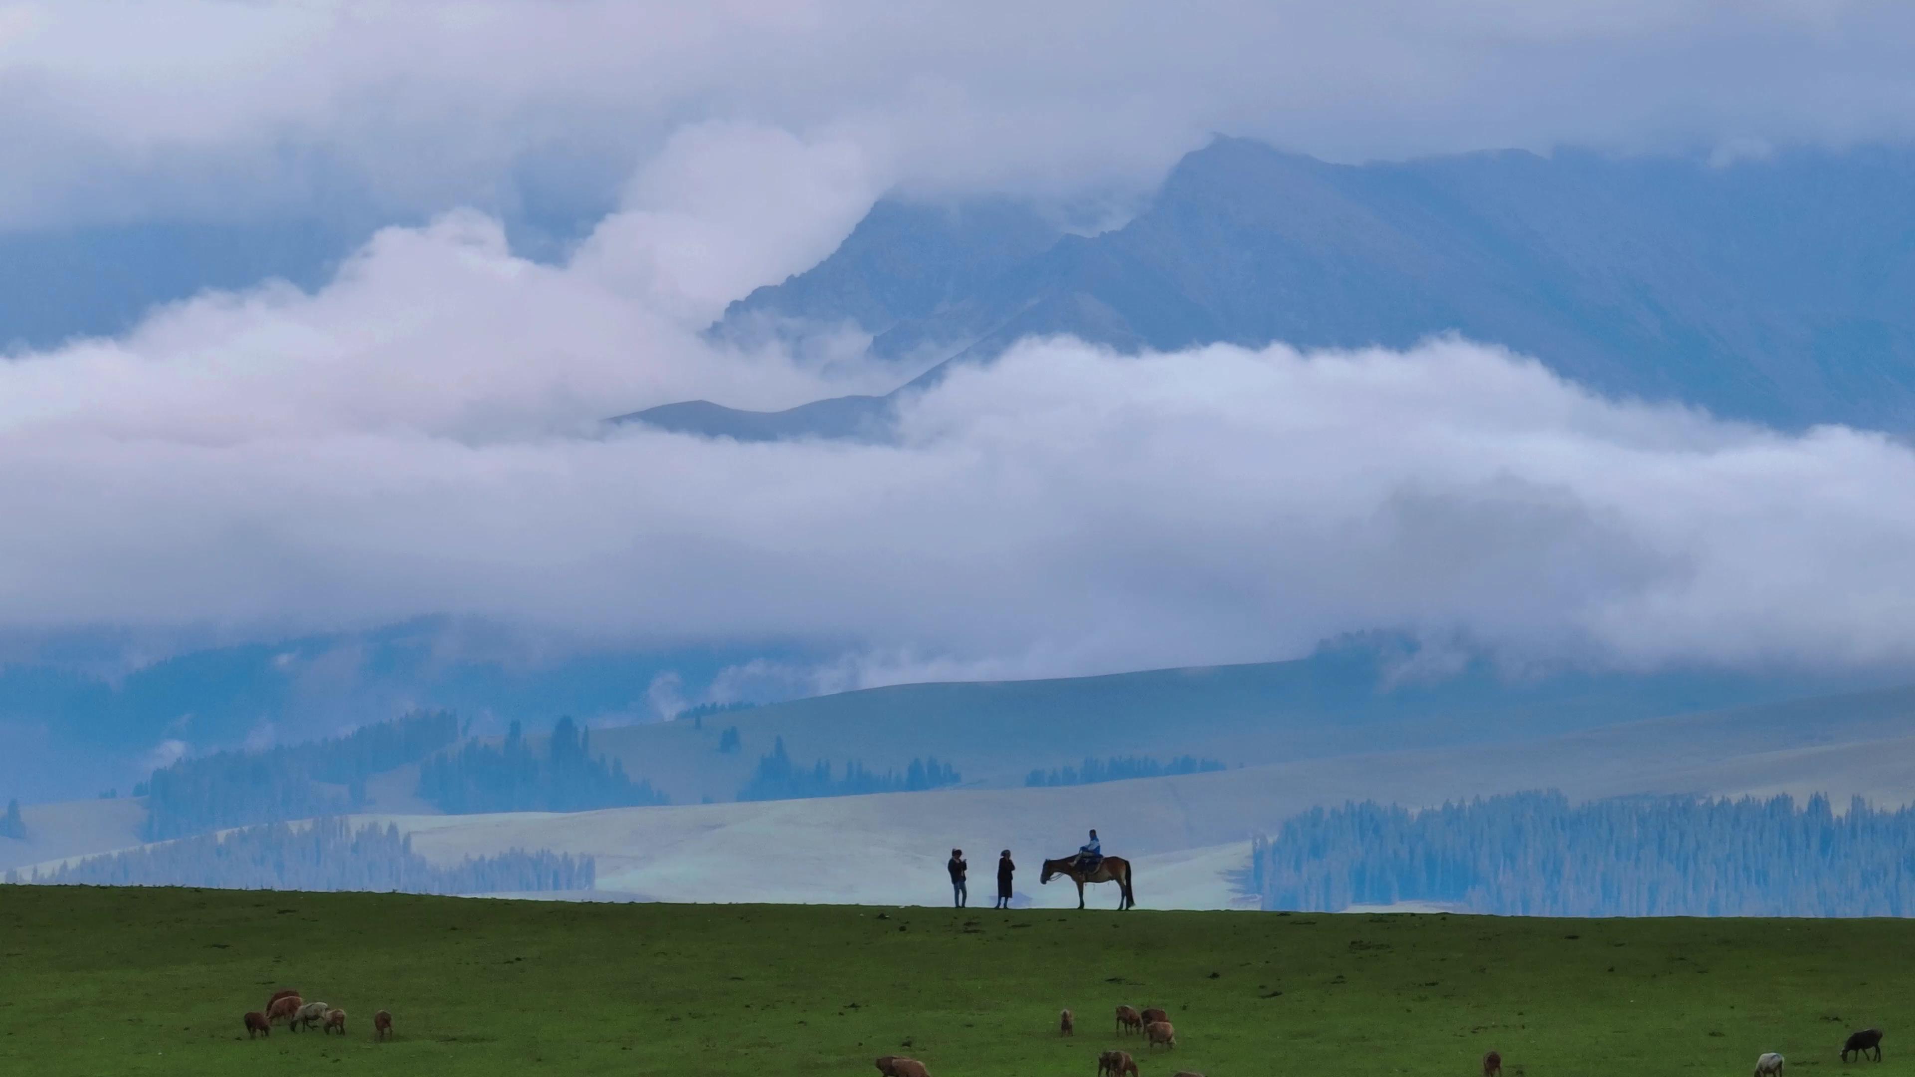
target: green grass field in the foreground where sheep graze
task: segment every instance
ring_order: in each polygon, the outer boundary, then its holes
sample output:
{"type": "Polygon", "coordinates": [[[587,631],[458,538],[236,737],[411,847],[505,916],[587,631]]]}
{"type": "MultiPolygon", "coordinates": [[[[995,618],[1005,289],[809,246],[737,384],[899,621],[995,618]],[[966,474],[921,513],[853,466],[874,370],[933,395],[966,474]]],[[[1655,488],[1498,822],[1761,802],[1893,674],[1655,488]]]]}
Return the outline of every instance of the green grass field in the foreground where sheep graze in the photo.
{"type": "Polygon", "coordinates": [[[1915,922],[666,906],[0,887],[0,1073],[1143,1077],[1907,1069],[1915,922]],[[349,1035],[249,1043],[297,987],[349,1035]],[[1164,1006],[1174,1052],[1113,1031],[1164,1006]],[[1078,1035],[1057,1035],[1057,1010],[1078,1035]],[[373,1010],[398,1037],[372,1043],[373,1010]],[[329,1066],[341,1064],[333,1071],[329,1066]],[[1854,1064],[1852,1064],[1854,1066],[1854,1064]]]}

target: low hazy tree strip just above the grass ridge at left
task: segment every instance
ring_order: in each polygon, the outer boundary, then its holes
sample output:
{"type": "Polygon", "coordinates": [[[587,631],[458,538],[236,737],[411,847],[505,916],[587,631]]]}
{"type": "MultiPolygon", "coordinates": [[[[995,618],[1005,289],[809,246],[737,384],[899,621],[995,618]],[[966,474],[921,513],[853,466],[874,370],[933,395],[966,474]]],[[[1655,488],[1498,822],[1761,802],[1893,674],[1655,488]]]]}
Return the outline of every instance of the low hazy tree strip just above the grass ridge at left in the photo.
{"type": "Polygon", "coordinates": [[[199,834],[124,853],[86,857],[50,874],[8,872],[10,883],[203,885],[222,889],[370,889],[400,893],[507,893],[592,889],[592,857],[513,849],[439,868],[412,851],[396,826],[352,830],[343,818],[272,822],[199,834]]]}

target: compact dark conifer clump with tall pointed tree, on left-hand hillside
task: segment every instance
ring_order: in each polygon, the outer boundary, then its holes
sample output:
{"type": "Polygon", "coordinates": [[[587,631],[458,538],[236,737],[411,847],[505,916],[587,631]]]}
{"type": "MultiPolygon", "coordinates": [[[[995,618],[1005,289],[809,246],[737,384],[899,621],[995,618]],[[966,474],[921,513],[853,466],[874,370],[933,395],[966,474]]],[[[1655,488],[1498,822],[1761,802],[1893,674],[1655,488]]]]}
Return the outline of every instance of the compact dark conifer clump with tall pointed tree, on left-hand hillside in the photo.
{"type": "Polygon", "coordinates": [[[592,730],[571,719],[553,726],[548,751],[532,751],[519,722],[506,744],[465,744],[419,767],[419,797],[452,814],[484,811],[594,811],[649,807],[670,797],[634,782],[624,763],[592,755],[592,730]]]}

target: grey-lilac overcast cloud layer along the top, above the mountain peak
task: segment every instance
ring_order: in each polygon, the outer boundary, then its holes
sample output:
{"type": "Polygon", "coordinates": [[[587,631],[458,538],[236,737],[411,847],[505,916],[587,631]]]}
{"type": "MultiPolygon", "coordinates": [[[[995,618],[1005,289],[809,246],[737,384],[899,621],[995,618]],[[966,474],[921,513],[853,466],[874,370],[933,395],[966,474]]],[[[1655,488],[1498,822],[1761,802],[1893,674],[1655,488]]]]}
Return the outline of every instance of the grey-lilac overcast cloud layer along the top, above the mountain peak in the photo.
{"type": "MultiPolygon", "coordinates": [[[[933,192],[1335,157],[1907,138],[1896,0],[0,4],[0,226],[609,207],[686,125],[933,192]]],[[[1731,149],[1733,151],[1733,149],[1731,149]]]]}

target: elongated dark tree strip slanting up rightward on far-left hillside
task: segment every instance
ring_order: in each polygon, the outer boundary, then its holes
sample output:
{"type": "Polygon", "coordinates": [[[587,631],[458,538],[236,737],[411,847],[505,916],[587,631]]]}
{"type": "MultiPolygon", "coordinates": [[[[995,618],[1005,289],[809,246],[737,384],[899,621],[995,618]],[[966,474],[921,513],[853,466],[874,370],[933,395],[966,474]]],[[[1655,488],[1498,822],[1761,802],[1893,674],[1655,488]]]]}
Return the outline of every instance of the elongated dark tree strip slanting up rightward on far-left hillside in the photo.
{"type": "Polygon", "coordinates": [[[366,778],[417,763],[460,738],[444,711],[406,715],[349,736],[182,759],[146,784],[146,841],[207,830],[339,814],[366,803],[366,778]],[[339,788],[327,788],[339,786],[339,788]]]}

